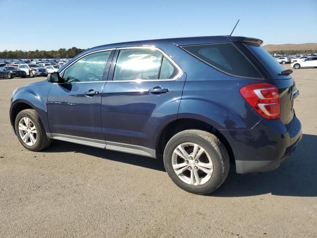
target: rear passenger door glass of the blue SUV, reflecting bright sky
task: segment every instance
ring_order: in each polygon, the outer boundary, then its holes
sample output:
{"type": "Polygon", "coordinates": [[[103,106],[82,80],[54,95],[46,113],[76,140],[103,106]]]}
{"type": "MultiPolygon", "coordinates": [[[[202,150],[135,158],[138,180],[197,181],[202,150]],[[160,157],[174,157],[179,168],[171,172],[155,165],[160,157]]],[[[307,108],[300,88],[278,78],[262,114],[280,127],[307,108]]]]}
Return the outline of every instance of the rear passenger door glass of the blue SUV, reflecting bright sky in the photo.
{"type": "Polygon", "coordinates": [[[152,49],[120,50],[114,81],[171,79],[178,69],[162,53],[152,49]]]}

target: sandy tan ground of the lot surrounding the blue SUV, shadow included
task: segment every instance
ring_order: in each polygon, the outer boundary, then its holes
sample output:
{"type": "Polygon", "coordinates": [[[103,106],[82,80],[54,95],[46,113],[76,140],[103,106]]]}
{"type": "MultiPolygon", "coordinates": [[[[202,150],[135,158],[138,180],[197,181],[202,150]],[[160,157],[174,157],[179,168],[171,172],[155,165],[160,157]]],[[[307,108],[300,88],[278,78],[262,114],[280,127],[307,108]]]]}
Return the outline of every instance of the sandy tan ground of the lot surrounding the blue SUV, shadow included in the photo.
{"type": "MultiPolygon", "coordinates": [[[[289,66],[286,66],[289,68],[289,66]]],[[[55,141],[25,150],[0,80],[0,237],[317,237],[317,69],[294,70],[303,140],[275,171],[236,175],[209,196],[172,183],[161,161],[55,141]]]]}

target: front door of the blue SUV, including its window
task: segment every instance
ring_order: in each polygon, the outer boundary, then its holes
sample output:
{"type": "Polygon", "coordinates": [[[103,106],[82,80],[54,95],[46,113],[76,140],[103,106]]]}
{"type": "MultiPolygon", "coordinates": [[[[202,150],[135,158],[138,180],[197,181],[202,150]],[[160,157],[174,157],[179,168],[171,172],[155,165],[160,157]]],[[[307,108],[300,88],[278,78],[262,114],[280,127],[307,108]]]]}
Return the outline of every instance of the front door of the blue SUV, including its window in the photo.
{"type": "Polygon", "coordinates": [[[88,144],[95,143],[91,139],[103,139],[101,93],[113,53],[111,50],[89,53],[60,72],[64,82],[53,83],[47,103],[53,138],[67,137],[88,144]]]}

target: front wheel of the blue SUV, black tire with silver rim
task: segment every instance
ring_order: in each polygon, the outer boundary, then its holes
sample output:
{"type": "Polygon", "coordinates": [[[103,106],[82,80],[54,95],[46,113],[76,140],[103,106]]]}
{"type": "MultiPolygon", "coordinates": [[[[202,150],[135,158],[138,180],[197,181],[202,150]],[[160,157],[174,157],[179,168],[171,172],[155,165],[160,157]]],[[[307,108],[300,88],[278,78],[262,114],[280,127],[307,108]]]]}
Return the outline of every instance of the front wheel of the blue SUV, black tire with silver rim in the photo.
{"type": "Polygon", "coordinates": [[[40,151],[47,148],[51,144],[51,139],[47,137],[44,126],[41,122],[41,119],[39,118],[37,112],[33,109],[26,109],[19,112],[15,118],[14,127],[15,127],[15,132],[20,143],[24,146],[24,148],[30,151],[40,151]],[[27,123],[24,120],[24,118],[28,119],[27,123]],[[23,128],[23,129],[19,129],[19,123],[20,125],[22,124],[20,128],[23,128]],[[35,130],[31,129],[27,131],[26,128],[30,129],[31,127],[35,128],[35,130]],[[34,131],[36,132],[33,133],[34,131]],[[26,134],[29,134],[29,135],[25,136],[26,134]],[[22,139],[23,135],[25,136],[26,141],[23,141],[22,139]],[[33,141],[31,138],[33,138],[33,141]]]}

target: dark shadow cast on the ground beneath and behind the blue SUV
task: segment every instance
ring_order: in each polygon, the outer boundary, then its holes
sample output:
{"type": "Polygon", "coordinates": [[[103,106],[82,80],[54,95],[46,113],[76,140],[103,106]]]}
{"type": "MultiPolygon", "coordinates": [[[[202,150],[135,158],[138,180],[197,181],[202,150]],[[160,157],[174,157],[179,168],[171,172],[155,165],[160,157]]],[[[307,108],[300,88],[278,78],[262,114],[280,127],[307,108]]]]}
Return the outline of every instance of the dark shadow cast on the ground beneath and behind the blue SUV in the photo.
{"type": "MultiPolygon", "coordinates": [[[[71,152],[88,154],[107,160],[165,171],[162,160],[103,150],[78,144],[54,141],[48,153],[71,152]]],[[[166,175],[167,176],[167,175],[166,175]]],[[[271,193],[279,196],[317,196],[317,136],[304,134],[292,156],[274,171],[262,174],[237,175],[231,166],[225,182],[209,196],[241,197],[271,193]]]]}

